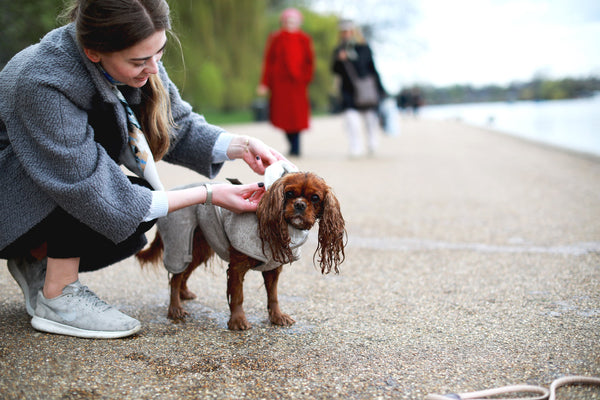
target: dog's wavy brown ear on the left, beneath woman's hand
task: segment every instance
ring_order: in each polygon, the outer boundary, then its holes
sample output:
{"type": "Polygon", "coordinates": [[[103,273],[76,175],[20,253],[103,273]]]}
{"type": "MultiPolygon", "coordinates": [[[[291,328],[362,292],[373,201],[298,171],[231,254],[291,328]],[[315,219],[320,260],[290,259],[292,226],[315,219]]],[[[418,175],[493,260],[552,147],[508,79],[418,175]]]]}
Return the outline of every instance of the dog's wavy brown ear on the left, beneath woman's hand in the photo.
{"type": "Polygon", "coordinates": [[[269,246],[273,259],[281,264],[293,260],[290,249],[290,234],[287,223],[283,217],[284,179],[278,179],[269,187],[258,203],[256,216],[258,217],[258,236],[262,242],[262,251],[269,246]]]}

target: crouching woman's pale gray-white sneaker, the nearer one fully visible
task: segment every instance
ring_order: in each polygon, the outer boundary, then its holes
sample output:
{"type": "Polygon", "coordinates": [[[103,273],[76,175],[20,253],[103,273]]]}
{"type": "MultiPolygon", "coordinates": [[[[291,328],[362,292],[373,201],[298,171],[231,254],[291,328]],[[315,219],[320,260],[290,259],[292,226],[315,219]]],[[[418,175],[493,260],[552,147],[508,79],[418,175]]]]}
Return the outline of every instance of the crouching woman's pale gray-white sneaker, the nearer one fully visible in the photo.
{"type": "Polygon", "coordinates": [[[47,299],[40,290],[31,325],[43,332],[94,339],[130,336],[142,326],[100,300],[79,281],[67,285],[53,299],[47,299]]]}

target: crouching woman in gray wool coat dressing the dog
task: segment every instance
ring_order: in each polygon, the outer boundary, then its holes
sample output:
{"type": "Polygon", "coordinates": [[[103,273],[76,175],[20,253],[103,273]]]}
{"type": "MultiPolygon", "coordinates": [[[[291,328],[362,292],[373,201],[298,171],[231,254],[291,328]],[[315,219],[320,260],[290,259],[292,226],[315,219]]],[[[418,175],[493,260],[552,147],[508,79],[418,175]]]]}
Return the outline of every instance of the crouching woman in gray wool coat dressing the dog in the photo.
{"type": "Polygon", "coordinates": [[[0,72],[0,257],[34,328],[123,337],[139,321],[98,299],[79,272],[135,254],[168,212],[211,201],[251,212],[264,193],[260,183],[165,192],[154,160],[212,178],[226,160],[263,174],[283,157],[208,124],[181,99],[160,63],[165,0],[79,0],[67,15],[71,23],[0,72]]]}

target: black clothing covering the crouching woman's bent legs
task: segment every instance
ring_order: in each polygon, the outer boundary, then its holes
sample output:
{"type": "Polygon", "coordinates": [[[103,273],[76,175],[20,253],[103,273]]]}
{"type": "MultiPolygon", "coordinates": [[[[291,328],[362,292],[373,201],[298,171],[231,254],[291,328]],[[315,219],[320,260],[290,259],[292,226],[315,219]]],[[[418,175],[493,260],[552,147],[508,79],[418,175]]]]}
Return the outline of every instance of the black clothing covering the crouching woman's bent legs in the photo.
{"type": "MultiPolygon", "coordinates": [[[[138,182],[138,178],[131,180],[147,186],[145,182],[138,182]]],[[[31,255],[32,250],[42,248],[52,258],[79,257],[80,272],[94,271],[140,251],[147,243],[144,233],[155,222],[143,222],[130,237],[114,243],[57,207],[29,232],[2,249],[0,258],[26,257],[31,255]]]]}

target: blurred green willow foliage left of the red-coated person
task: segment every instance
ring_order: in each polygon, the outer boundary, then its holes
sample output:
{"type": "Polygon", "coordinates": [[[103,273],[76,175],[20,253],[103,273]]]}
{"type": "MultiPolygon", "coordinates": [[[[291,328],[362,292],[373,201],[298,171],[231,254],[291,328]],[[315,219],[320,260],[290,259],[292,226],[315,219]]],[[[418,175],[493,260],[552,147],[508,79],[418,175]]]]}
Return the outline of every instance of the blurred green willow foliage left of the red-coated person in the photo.
{"type": "Polygon", "coordinates": [[[183,54],[171,47],[165,63],[183,96],[205,110],[247,107],[260,73],[257,49],[266,34],[266,1],[179,0],[170,5],[183,54]]]}

